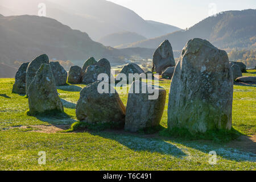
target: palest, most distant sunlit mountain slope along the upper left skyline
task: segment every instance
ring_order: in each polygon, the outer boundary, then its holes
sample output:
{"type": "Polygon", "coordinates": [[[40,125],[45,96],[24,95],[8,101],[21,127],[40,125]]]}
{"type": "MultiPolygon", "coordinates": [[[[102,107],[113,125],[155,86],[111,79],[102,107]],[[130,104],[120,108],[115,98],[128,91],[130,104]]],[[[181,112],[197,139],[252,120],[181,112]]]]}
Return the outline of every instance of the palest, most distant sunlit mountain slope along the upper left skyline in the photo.
{"type": "Polygon", "coordinates": [[[47,17],[87,32],[93,40],[123,31],[136,32],[146,38],[171,32],[168,26],[148,22],[134,11],[105,0],[1,0],[0,13],[5,16],[38,15],[40,3],[46,5],[47,17]]]}

